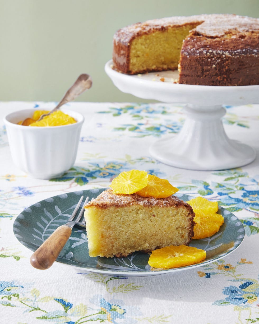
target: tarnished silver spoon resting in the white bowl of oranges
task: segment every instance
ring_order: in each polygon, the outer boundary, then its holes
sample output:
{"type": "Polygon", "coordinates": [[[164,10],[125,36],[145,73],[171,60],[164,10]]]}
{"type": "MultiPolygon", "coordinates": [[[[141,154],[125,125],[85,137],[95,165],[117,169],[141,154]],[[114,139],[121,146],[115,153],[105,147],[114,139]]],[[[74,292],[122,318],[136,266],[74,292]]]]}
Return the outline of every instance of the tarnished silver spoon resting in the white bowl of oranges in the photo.
{"type": "MultiPolygon", "coordinates": [[[[43,117],[50,115],[54,111],[58,110],[61,106],[63,106],[65,103],[73,101],[75,98],[77,98],[81,93],[83,93],[85,90],[90,89],[92,86],[92,78],[90,75],[84,73],[78,76],[76,82],[70,87],[67,92],[65,93],[65,96],[60,100],[58,105],[48,112],[47,114],[41,115],[41,117],[38,119],[40,121],[43,117]]],[[[34,122],[35,120],[31,118],[26,118],[21,125],[28,126],[30,123],[34,122]]]]}

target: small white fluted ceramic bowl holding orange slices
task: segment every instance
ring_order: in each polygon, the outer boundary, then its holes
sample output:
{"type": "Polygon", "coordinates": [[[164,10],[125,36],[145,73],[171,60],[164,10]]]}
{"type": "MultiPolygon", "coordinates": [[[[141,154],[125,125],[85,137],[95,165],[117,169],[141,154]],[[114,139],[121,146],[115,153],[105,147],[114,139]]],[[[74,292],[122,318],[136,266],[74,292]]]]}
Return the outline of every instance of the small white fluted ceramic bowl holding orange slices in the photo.
{"type": "Polygon", "coordinates": [[[13,161],[32,178],[58,177],[75,163],[84,117],[64,109],[62,111],[76,123],[52,127],[17,125],[17,122],[32,117],[34,111],[19,110],[4,118],[13,161]]]}

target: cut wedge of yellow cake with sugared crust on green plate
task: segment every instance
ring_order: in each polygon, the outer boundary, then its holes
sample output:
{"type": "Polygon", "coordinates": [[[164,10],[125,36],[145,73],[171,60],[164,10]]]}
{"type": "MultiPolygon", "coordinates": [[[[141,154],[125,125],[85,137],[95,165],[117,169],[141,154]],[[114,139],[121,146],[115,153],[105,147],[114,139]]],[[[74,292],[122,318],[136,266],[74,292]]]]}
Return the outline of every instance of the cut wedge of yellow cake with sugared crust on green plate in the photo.
{"type": "Polygon", "coordinates": [[[141,197],[108,189],[85,206],[84,216],[90,257],[188,245],[194,235],[193,209],[175,196],[141,197]]]}

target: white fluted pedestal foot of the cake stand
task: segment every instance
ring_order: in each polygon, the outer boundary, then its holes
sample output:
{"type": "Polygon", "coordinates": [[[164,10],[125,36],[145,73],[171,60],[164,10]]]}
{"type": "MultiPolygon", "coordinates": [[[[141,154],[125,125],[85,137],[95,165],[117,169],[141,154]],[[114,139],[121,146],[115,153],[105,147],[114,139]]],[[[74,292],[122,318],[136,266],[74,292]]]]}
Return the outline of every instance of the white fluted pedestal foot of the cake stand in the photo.
{"type": "Polygon", "coordinates": [[[191,170],[221,170],[251,163],[255,150],[231,140],[221,118],[226,110],[218,106],[187,105],[186,120],[177,135],[159,139],[149,152],[158,161],[191,170]]]}

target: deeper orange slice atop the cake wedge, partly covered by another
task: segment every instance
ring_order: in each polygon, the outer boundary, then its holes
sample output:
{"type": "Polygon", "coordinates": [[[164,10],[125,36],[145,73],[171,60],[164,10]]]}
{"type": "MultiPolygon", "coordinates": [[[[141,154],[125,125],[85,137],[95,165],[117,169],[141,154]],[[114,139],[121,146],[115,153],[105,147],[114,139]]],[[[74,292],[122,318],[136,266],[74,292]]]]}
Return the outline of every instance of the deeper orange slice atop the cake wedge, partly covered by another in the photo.
{"type": "Polygon", "coordinates": [[[151,174],[147,177],[147,186],[137,191],[141,197],[167,198],[177,192],[179,189],[172,186],[166,179],[160,179],[151,174]]]}

